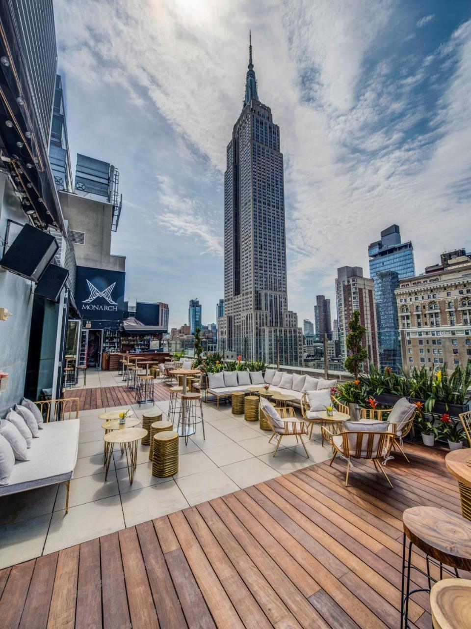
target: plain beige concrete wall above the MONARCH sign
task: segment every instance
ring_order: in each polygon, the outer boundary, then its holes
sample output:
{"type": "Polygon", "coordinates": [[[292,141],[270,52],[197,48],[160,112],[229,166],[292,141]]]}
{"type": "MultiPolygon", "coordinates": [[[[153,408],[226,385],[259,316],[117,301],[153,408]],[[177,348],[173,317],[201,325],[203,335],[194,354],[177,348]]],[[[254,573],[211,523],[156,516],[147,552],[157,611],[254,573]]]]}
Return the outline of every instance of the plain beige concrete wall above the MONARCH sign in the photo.
{"type": "Polygon", "coordinates": [[[112,205],[69,192],[59,192],[59,200],[70,229],[85,232],[84,245],[73,245],[77,264],[124,271],[126,257],[110,253],[112,205]]]}

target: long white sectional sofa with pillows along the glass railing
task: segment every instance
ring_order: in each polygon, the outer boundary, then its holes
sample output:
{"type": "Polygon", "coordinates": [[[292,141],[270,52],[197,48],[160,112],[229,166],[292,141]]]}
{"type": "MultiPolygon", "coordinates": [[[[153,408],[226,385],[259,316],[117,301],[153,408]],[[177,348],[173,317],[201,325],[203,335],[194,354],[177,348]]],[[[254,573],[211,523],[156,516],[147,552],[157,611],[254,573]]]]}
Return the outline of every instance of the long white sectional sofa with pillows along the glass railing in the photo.
{"type": "Polygon", "coordinates": [[[330,389],[337,384],[337,380],[298,376],[276,369],[267,369],[265,374],[261,371],[221,371],[218,374],[208,374],[207,393],[216,398],[219,408],[221,398],[229,398],[235,391],[249,392],[248,387],[264,384],[269,384],[270,391],[295,396],[294,402],[300,404],[307,391],[330,389]]]}

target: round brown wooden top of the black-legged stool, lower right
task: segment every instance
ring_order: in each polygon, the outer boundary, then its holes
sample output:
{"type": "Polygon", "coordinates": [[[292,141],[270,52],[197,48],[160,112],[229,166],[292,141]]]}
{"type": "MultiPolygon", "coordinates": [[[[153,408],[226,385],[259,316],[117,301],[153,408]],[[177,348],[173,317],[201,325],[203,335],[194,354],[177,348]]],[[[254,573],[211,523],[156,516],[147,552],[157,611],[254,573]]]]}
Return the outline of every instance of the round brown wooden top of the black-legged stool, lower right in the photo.
{"type": "Polygon", "coordinates": [[[471,522],[446,509],[411,507],[403,513],[404,533],[443,564],[471,570],[471,522]]]}

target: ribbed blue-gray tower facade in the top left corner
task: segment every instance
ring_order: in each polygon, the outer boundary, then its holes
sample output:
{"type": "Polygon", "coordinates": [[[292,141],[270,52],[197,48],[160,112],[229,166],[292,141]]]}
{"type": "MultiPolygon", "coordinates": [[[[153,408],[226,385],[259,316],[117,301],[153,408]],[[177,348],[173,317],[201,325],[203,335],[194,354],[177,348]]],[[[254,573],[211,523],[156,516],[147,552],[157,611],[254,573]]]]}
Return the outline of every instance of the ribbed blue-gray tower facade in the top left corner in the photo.
{"type": "Polygon", "coordinates": [[[13,0],[13,6],[24,62],[47,147],[57,72],[52,0],[13,0]]]}

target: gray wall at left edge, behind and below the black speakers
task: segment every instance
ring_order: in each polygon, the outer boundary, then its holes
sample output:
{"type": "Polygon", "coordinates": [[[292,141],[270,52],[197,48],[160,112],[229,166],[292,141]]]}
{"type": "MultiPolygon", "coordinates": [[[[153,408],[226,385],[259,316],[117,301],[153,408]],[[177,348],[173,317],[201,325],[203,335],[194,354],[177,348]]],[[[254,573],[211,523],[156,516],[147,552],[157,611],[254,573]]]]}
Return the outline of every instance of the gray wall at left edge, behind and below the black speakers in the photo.
{"type": "MultiPolygon", "coordinates": [[[[23,225],[26,214],[13,193],[8,176],[0,172],[1,255],[8,219],[23,225]]],[[[18,225],[11,225],[9,243],[13,242],[20,229],[18,225]]],[[[31,282],[0,269],[0,308],[8,308],[13,313],[6,321],[0,321],[0,370],[9,374],[8,389],[0,394],[0,415],[4,417],[5,411],[23,397],[33,309],[31,282]]]]}

